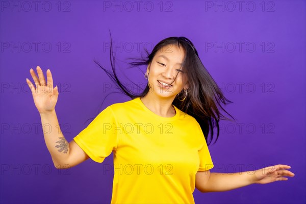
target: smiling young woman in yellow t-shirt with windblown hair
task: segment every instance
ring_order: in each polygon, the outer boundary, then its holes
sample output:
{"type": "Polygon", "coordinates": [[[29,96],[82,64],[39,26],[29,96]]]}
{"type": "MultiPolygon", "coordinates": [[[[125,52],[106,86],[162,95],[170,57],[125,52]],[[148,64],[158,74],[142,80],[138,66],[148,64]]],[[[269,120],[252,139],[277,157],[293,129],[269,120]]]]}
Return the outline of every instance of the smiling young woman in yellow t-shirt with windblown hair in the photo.
{"type": "MultiPolygon", "coordinates": [[[[112,52],[112,50],[111,50],[112,52]]],[[[112,203],[194,203],[193,191],[227,191],[250,184],[286,181],[294,174],[288,165],[275,165],[252,172],[210,173],[213,168],[208,133],[223,116],[220,105],[227,100],[197,51],[185,37],[159,42],[146,60],[133,65],[147,66],[148,84],[141,94],[131,93],[104,69],[132,99],[108,106],[69,143],[58,131],[55,112],[58,88],[53,88],[51,71],[37,66],[27,79],[56,168],[69,168],[88,158],[96,162],[114,153],[112,203]],[[50,91],[45,91],[50,90],[50,91]]],[[[231,101],[229,101],[231,102],[231,101]]],[[[225,110],[224,110],[225,111],[225,110]]],[[[226,112],[226,111],[225,111],[226,112]]],[[[226,112],[227,113],[227,112],[226,112]]],[[[223,119],[225,117],[223,116],[223,119]]],[[[226,119],[226,118],[225,118],[226,119]]]]}

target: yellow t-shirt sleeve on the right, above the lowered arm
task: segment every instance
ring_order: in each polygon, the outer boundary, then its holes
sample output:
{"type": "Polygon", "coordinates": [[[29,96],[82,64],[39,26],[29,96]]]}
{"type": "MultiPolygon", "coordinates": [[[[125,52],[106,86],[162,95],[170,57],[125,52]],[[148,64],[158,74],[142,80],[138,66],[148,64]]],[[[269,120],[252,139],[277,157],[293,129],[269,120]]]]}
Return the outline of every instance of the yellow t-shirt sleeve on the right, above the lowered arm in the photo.
{"type": "Polygon", "coordinates": [[[198,171],[207,171],[209,169],[212,169],[214,167],[214,163],[212,161],[207,143],[206,143],[206,139],[203,135],[203,132],[201,131],[201,127],[200,125],[198,125],[199,129],[200,129],[200,135],[202,137],[201,139],[201,144],[202,144],[202,148],[200,150],[198,150],[198,154],[199,154],[199,159],[200,159],[200,166],[198,171]]]}

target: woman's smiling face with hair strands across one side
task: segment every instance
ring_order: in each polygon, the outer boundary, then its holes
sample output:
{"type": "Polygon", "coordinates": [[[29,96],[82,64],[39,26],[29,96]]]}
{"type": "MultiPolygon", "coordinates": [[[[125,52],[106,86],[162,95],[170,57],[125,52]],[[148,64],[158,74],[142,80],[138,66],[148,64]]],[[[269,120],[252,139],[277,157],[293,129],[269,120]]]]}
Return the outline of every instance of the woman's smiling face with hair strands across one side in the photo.
{"type": "Polygon", "coordinates": [[[166,45],[156,53],[146,72],[151,87],[149,94],[154,93],[160,97],[174,99],[183,88],[188,88],[187,75],[181,67],[184,57],[183,47],[177,45],[166,45]],[[167,86],[161,83],[172,84],[167,86]]]}

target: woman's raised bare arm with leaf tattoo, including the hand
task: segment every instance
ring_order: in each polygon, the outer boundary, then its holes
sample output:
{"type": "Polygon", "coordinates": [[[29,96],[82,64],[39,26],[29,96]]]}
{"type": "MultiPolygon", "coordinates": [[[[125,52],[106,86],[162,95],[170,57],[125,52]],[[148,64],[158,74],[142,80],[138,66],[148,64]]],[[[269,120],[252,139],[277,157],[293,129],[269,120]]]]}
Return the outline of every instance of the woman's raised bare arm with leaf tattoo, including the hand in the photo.
{"type": "Polygon", "coordinates": [[[53,88],[53,78],[49,69],[47,70],[47,82],[41,68],[37,66],[36,69],[39,78],[33,69],[30,70],[36,88],[28,79],[27,83],[40,114],[44,140],[52,161],[55,167],[59,169],[78,165],[87,160],[89,156],[74,140],[68,143],[63,136],[55,112],[55,105],[59,95],[58,87],[53,88]]]}

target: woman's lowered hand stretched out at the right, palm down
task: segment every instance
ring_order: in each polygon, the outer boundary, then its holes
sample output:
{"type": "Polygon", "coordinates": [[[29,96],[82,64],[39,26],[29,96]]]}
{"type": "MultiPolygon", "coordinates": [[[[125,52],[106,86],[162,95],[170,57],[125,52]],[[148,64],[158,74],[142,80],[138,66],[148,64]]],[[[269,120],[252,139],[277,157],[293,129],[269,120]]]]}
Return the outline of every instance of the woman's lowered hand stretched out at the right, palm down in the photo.
{"type": "Polygon", "coordinates": [[[258,169],[253,174],[253,182],[255,184],[268,184],[275,181],[287,181],[288,178],[284,176],[294,176],[294,173],[286,170],[290,168],[288,165],[278,164],[258,169]]]}

